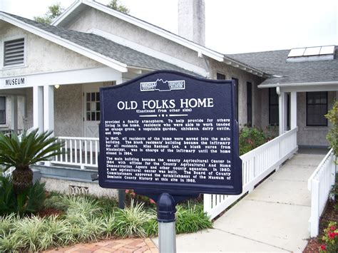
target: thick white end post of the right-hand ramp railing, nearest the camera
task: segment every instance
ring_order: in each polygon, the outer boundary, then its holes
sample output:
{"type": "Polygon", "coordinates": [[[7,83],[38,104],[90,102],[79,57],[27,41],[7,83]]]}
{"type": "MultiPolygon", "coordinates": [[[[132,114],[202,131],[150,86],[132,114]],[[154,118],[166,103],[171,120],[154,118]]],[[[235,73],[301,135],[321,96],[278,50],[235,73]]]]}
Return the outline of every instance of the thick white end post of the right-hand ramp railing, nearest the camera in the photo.
{"type": "Polygon", "coordinates": [[[319,232],[319,181],[312,180],[311,183],[311,237],[317,237],[319,232]]]}

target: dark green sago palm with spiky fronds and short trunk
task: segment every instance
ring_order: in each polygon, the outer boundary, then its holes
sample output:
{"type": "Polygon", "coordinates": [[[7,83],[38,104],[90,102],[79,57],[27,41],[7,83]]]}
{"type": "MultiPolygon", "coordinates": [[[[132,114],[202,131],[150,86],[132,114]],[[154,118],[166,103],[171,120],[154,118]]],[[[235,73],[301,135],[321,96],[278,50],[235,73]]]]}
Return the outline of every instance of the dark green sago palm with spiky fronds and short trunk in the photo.
{"type": "Polygon", "coordinates": [[[52,133],[39,133],[36,129],[31,133],[24,132],[21,138],[16,134],[0,134],[0,164],[4,165],[4,171],[15,167],[12,180],[16,194],[24,192],[32,185],[33,171],[30,165],[62,153],[63,143],[56,141],[57,138],[52,137],[52,133]]]}

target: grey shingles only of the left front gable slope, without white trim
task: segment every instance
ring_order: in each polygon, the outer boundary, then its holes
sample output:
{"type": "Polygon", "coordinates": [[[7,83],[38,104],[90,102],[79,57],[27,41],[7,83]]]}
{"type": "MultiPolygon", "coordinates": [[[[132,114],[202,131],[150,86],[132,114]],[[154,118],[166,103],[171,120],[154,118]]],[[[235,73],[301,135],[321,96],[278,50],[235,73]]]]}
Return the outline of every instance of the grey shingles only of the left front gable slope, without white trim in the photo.
{"type": "Polygon", "coordinates": [[[162,61],[158,58],[148,56],[145,53],[141,53],[132,48],[128,48],[127,46],[122,46],[121,44],[115,43],[111,40],[108,40],[107,38],[103,38],[93,33],[71,31],[57,26],[41,24],[36,21],[32,21],[31,19],[25,19],[21,16],[16,16],[14,14],[5,14],[12,16],[19,21],[23,21],[24,23],[31,26],[35,26],[38,29],[47,31],[48,33],[53,33],[53,35],[76,43],[79,46],[88,48],[91,51],[101,53],[103,56],[108,56],[109,58],[120,61],[121,63],[126,63],[129,67],[149,68],[153,70],[167,69],[190,73],[192,75],[198,76],[196,73],[192,73],[191,71],[187,71],[171,63],[162,61]]]}

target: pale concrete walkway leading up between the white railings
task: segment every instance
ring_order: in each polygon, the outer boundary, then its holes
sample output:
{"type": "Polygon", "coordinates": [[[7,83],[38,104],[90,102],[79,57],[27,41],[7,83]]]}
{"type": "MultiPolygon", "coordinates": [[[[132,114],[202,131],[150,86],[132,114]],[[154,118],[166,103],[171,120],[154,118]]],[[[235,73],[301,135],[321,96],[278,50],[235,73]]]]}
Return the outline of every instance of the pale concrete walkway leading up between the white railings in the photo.
{"type": "Polygon", "coordinates": [[[298,153],[218,218],[214,229],[178,235],[177,252],[302,252],[309,238],[307,179],[322,158],[298,153]]]}

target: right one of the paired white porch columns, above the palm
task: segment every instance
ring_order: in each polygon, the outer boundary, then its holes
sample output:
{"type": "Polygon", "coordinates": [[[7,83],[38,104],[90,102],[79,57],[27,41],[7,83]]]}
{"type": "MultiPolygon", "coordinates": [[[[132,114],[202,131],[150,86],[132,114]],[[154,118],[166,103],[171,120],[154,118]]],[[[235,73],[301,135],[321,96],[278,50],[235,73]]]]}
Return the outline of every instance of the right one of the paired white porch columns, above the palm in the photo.
{"type": "Polygon", "coordinates": [[[43,86],[43,130],[54,130],[54,86],[43,86]]]}

